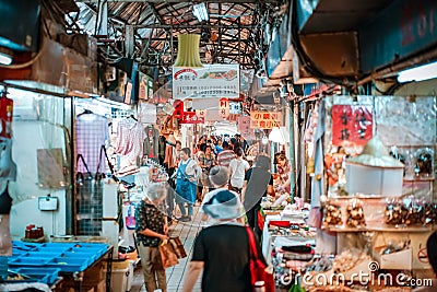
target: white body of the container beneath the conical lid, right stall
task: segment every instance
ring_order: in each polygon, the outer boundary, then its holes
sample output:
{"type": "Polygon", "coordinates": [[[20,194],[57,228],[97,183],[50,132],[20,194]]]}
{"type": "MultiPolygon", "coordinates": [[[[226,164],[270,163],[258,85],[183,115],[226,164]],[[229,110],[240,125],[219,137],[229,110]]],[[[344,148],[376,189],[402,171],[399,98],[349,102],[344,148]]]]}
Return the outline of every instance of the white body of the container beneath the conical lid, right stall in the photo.
{"type": "Polygon", "coordinates": [[[385,168],[346,162],[346,190],[353,195],[402,195],[403,167],[385,168]]]}

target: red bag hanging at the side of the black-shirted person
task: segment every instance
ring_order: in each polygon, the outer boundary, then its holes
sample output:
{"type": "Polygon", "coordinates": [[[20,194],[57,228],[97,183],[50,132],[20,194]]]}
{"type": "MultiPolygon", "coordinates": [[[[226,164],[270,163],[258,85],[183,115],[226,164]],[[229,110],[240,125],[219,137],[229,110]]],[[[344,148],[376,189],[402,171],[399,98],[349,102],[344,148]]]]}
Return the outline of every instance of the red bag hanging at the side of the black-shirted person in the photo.
{"type": "Polygon", "coordinates": [[[250,226],[246,226],[247,235],[249,237],[249,269],[250,269],[250,284],[253,291],[256,291],[255,283],[264,282],[265,292],[274,292],[274,280],[273,273],[268,271],[268,265],[265,265],[258,257],[258,248],[255,240],[255,234],[250,226]]]}

